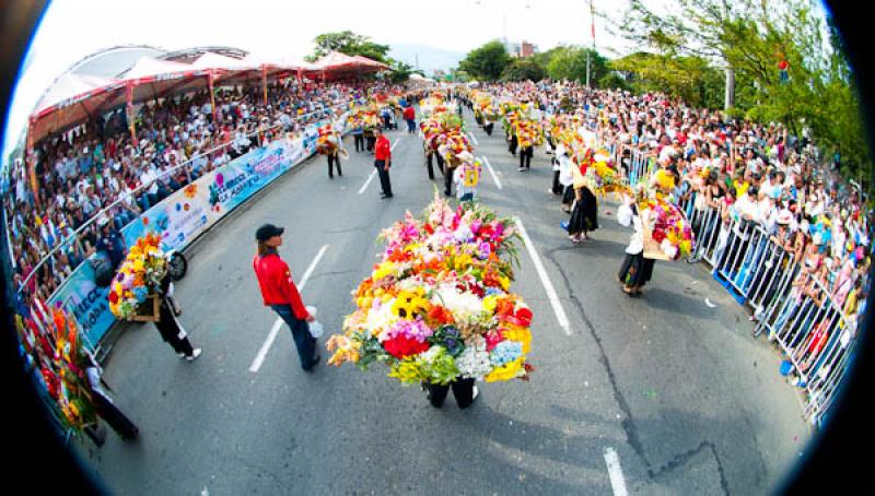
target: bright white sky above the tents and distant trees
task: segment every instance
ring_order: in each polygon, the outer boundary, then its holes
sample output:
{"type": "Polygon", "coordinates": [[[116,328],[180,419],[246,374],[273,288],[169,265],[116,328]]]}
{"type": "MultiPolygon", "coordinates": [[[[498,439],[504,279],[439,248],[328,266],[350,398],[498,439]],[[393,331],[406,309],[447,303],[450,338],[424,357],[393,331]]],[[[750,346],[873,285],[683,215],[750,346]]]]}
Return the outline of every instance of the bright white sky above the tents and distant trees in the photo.
{"type": "MultiPolygon", "coordinates": [[[[595,0],[617,11],[623,1],[595,0]]],[[[381,44],[419,44],[467,52],[494,38],[591,44],[585,0],[55,0],[25,58],[7,129],[14,146],[39,96],[70,66],[102,48],[151,45],[179,49],[221,45],[269,57],[301,59],[316,35],[350,29],[381,44]]],[[[596,46],[622,50],[596,19],[596,46]]]]}

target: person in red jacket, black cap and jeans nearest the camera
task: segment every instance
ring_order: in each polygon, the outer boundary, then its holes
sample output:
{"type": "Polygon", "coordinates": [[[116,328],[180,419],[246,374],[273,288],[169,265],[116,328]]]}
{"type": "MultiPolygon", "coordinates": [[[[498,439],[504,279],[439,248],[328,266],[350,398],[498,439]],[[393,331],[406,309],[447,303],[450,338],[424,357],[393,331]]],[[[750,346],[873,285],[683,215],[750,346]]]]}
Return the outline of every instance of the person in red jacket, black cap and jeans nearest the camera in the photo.
{"type": "Polygon", "coordinates": [[[316,353],[316,339],[310,333],[308,322],[313,322],[301,294],[292,281],[289,265],[280,258],[277,248],[282,245],[282,227],[265,224],[255,233],[258,253],[253,259],[253,269],[258,277],[265,306],[276,311],[292,330],[292,339],[298,346],[301,367],[311,371],[319,362],[316,353]]]}

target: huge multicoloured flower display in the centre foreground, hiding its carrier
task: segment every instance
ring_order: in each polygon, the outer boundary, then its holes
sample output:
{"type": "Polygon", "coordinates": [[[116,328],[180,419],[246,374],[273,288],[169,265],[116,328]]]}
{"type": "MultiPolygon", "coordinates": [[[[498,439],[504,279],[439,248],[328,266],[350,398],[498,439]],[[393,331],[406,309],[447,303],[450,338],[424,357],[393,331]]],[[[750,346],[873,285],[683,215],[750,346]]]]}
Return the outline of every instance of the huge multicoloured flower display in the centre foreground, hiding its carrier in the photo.
{"type": "Polygon", "coordinates": [[[408,213],[382,233],[385,251],[327,343],[329,364],[381,363],[405,385],[527,379],[533,315],[509,292],[515,237],[511,220],[436,194],[420,219],[408,213]]]}

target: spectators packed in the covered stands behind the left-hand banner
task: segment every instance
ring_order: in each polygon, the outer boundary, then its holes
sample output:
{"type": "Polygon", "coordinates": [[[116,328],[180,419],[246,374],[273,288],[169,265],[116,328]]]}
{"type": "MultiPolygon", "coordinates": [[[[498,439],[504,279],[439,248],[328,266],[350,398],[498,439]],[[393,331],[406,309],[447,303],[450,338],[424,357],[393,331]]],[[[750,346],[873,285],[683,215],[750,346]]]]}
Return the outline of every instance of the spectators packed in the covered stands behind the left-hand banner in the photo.
{"type": "Polygon", "coordinates": [[[27,281],[28,294],[47,299],[94,252],[117,265],[125,256],[120,229],[141,212],[252,146],[301,132],[378,86],[273,82],[267,105],[260,84],[221,88],[215,111],[208,92],[177,95],[139,108],[136,142],[124,108],[42,139],[13,165],[4,202],[16,287],[62,241],[27,281]]]}

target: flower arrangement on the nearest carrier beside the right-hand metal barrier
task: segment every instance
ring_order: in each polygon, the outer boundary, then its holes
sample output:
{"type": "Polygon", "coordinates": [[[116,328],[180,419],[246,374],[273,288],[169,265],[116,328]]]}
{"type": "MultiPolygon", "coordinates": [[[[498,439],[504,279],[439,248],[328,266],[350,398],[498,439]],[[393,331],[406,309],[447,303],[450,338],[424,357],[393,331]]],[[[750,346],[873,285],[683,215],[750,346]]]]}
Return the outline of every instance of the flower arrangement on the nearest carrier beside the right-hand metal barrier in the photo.
{"type": "Polygon", "coordinates": [[[684,212],[658,193],[638,205],[644,221],[644,256],[663,260],[680,260],[692,253],[695,239],[684,212]],[[650,243],[652,240],[652,243],[650,243]],[[648,249],[650,245],[651,249],[648,249]]]}

